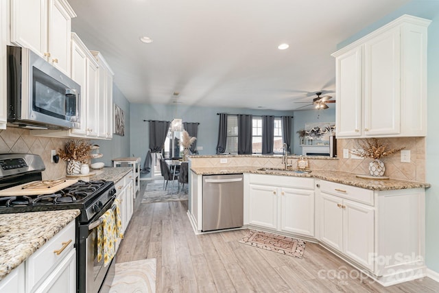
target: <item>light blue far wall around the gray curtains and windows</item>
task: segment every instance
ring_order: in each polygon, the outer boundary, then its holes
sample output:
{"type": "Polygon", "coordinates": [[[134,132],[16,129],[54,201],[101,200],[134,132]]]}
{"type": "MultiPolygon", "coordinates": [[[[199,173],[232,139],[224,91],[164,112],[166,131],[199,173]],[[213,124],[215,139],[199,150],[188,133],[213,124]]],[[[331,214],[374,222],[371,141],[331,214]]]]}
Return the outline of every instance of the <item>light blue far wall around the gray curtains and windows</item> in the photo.
{"type": "MultiPolygon", "coordinates": [[[[293,115],[292,111],[276,110],[251,110],[244,108],[209,108],[185,105],[163,105],[163,104],[131,104],[131,151],[134,156],[142,158],[148,151],[149,124],[145,120],[164,120],[171,121],[182,118],[183,122],[199,122],[197,147],[202,146],[200,154],[215,154],[218,141],[219,115],[217,113],[228,114],[251,114],[251,115],[293,115]]],[[[294,119],[293,119],[294,125],[294,119]]]]}

